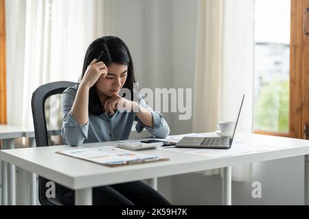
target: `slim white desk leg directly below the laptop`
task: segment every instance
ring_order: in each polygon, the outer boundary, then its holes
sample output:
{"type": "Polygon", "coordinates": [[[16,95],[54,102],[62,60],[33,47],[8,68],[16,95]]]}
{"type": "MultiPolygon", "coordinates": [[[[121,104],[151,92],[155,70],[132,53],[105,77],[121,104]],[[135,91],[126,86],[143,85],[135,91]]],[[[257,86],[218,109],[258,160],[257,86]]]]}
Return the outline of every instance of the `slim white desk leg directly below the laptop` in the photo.
{"type": "Polygon", "coordinates": [[[231,205],[231,166],[222,168],[222,205],[231,205]]]}

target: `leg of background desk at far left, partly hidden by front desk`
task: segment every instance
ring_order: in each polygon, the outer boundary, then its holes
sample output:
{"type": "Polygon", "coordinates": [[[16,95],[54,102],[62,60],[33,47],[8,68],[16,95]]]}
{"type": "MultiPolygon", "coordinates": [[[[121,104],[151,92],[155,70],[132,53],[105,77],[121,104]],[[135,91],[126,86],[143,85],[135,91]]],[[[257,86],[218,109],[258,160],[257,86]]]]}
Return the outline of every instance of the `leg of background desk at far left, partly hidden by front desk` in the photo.
{"type": "MultiPolygon", "coordinates": [[[[14,149],[14,138],[6,140],[7,149],[14,149]]],[[[8,205],[15,205],[15,165],[8,164],[8,205]]]]}

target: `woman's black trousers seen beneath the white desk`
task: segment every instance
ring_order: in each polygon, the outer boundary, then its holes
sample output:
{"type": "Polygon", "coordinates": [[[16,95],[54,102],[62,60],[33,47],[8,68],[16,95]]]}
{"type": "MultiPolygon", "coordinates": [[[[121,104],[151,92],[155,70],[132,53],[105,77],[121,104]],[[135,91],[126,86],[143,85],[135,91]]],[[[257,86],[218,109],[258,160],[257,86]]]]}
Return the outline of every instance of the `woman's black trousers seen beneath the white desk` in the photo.
{"type": "MultiPolygon", "coordinates": [[[[59,201],[64,205],[74,205],[75,192],[60,188],[59,201]]],[[[170,205],[159,192],[142,181],[100,186],[92,189],[93,205],[170,205]]]]}

